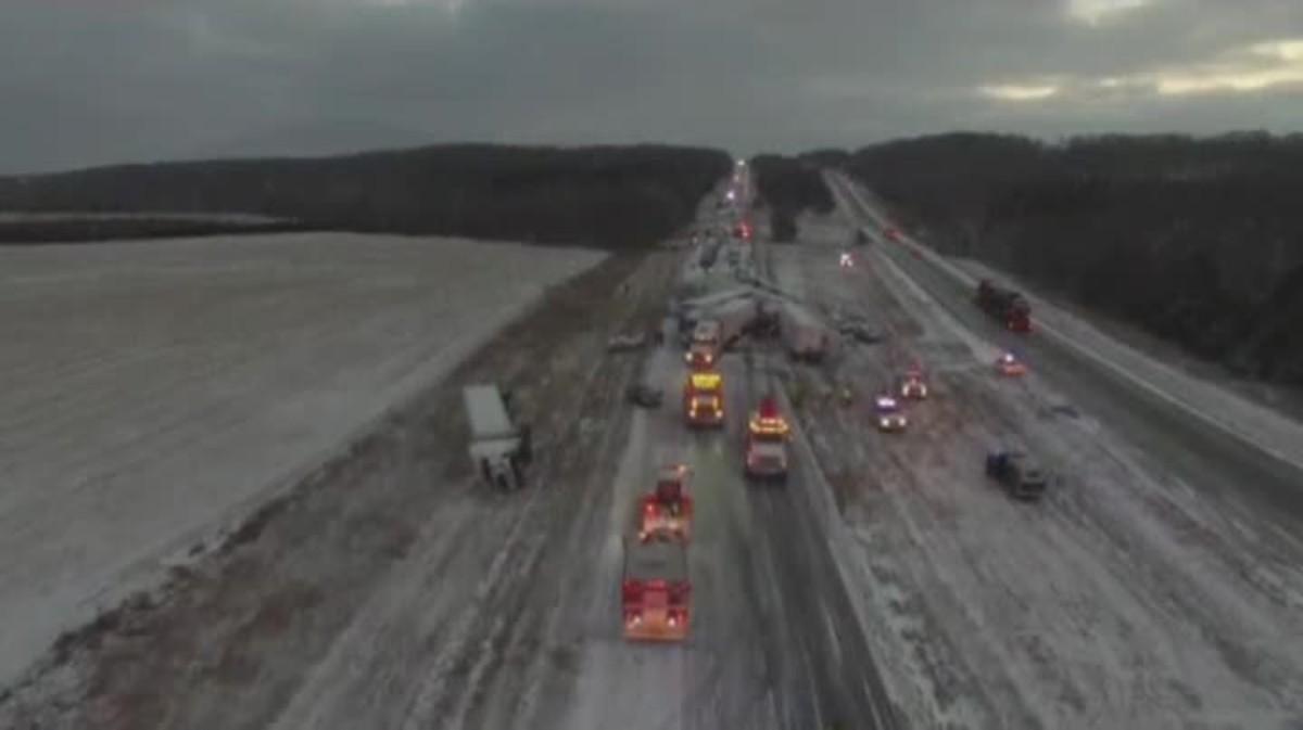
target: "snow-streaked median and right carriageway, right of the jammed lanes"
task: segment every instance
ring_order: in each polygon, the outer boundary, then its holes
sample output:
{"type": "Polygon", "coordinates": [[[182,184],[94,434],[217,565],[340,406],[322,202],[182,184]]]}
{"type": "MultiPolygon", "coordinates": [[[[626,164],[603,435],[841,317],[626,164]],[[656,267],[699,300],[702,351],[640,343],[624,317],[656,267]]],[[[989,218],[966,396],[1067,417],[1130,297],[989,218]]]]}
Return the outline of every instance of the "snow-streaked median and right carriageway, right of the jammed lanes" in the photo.
{"type": "Polygon", "coordinates": [[[904,439],[846,415],[812,424],[823,467],[855,476],[848,550],[865,604],[890,617],[877,655],[916,726],[1303,720],[1303,532],[1296,509],[1276,509],[1298,476],[1273,476],[1226,435],[1174,427],[1162,401],[1089,359],[994,327],[908,249],[873,246],[853,277],[834,258],[786,263],[825,282],[826,304],[859,302],[894,334],[834,375],[873,389],[917,358],[936,381],[904,439]],[[1032,375],[994,377],[992,346],[1016,347],[1032,375]],[[1061,475],[1042,504],[985,483],[998,445],[1061,475]]]}

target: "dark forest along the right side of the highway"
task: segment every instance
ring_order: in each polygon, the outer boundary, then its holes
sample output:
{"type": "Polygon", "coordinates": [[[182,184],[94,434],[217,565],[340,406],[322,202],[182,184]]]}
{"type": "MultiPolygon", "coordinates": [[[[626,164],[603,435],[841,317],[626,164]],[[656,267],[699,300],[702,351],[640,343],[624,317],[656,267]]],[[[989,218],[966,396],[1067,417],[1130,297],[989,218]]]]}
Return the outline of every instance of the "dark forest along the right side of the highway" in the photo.
{"type": "Polygon", "coordinates": [[[1303,384],[1303,135],[947,134],[839,164],[946,252],[1303,384]]]}

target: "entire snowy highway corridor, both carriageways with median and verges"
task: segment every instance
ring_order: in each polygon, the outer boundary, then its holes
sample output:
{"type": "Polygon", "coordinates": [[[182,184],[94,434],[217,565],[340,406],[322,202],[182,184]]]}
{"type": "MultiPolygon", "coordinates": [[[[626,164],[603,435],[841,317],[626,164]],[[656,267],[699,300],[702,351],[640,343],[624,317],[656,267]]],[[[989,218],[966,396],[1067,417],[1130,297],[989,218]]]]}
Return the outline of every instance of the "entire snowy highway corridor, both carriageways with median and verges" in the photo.
{"type": "MultiPolygon", "coordinates": [[[[1303,717],[1303,532],[1296,510],[1272,509],[1289,507],[1290,474],[1071,349],[1012,340],[907,249],[859,249],[839,267],[847,224],[869,219],[834,185],[842,217],[803,221],[796,245],[760,230],[757,271],[882,341],[844,341],[822,366],[743,342],[719,363],[726,427],[691,431],[675,333],[636,353],[606,342],[663,316],[697,251],[612,262],[167,600],[72,643],[0,699],[0,726],[1256,730],[1303,717]],[[1024,379],[992,371],[1010,345],[1024,379]],[[870,396],[913,362],[932,397],[909,405],[904,433],[881,433],[870,396]],[[665,390],[661,407],[624,401],[636,379],[665,390]],[[447,416],[466,381],[511,384],[534,415],[523,492],[470,474],[447,416]],[[796,384],[857,399],[794,409],[796,384]],[[743,478],[747,415],[769,392],[795,429],[786,485],[743,478]],[[984,478],[985,453],[1010,444],[1057,471],[1040,504],[984,478]],[[623,545],[675,461],[693,470],[692,629],[631,643],[623,545]]],[[[730,216],[708,199],[698,220],[730,216]]],[[[704,289],[735,285],[721,262],[704,289]]]]}

